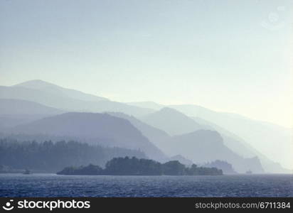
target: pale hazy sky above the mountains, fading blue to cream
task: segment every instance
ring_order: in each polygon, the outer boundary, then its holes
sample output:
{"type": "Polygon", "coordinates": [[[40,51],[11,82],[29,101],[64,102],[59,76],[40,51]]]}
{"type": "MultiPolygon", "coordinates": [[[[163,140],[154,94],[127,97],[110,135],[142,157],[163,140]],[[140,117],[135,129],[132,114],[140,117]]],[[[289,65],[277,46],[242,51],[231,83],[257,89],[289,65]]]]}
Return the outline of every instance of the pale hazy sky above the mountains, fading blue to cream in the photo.
{"type": "Polygon", "coordinates": [[[293,1],[0,0],[0,84],[293,126],[293,1]]]}

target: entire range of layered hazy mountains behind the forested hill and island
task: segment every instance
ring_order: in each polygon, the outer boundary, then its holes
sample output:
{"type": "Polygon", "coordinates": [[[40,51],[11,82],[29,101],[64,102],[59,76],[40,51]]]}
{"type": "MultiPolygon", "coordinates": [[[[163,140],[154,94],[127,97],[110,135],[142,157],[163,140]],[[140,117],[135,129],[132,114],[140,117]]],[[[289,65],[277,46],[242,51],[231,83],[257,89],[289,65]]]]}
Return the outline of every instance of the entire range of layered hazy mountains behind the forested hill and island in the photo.
{"type": "Polygon", "coordinates": [[[112,102],[41,80],[0,86],[0,133],[131,148],[161,162],[224,160],[240,173],[293,168],[292,129],[196,105],[112,102]]]}

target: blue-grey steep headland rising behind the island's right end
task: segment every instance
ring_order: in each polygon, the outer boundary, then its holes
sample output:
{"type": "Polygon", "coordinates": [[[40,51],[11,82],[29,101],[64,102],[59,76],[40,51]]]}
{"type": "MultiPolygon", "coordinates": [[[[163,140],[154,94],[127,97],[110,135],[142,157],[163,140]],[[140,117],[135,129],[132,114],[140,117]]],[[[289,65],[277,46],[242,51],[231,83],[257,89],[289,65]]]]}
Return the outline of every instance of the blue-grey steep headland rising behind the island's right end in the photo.
{"type": "Polygon", "coordinates": [[[202,164],[214,160],[225,160],[239,173],[252,170],[253,173],[263,173],[260,160],[243,158],[231,151],[223,143],[223,138],[217,131],[198,130],[180,136],[173,136],[165,141],[164,151],[169,155],[183,155],[194,163],[202,164]]]}

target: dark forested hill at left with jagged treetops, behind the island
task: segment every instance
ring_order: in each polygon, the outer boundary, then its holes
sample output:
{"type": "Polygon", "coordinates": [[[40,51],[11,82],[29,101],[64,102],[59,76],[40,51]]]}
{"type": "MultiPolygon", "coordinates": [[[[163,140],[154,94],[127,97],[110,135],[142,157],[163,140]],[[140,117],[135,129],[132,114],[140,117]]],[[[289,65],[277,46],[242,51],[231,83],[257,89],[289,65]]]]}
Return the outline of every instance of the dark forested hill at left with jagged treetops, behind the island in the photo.
{"type": "Polygon", "coordinates": [[[141,151],[127,148],[107,148],[76,141],[16,141],[0,139],[0,164],[16,170],[28,168],[40,172],[57,172],[65,166],[104,166],[115,157],[146,158],[141,151]]]}

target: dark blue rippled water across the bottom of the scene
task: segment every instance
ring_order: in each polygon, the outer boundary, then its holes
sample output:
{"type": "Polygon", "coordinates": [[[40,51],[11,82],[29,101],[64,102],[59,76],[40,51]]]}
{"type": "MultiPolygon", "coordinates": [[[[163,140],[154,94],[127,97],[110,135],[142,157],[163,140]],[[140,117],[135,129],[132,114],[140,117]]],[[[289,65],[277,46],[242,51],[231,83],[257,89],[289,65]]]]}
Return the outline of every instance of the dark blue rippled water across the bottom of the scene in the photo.
{"type": "Polygon", "coordinates": [[[293,175],[0,174],[0,197],[293,197],[293,175]]]}

